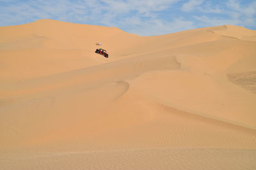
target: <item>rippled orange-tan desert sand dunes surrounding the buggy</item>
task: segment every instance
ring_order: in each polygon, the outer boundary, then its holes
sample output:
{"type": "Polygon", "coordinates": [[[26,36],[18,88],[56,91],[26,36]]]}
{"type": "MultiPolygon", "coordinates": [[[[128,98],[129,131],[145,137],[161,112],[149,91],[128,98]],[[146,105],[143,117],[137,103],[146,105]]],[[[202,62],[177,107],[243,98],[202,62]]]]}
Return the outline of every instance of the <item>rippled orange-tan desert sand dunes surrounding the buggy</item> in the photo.
{"type": "Polygon", "coordinates": [[[0,134],[0,169],[256,169],[256,31],[0,27],[0,134]]]}

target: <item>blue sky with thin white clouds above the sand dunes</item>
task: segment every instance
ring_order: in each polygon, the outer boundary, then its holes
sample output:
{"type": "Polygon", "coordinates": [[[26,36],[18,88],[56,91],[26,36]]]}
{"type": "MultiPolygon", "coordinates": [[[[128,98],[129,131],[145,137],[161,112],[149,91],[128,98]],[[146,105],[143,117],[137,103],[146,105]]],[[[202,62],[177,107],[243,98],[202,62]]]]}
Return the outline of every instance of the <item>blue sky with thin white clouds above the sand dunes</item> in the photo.
{"type": "Polygon", "coordinates": [[[0,0],[0,26],[41,18],[153,36],[217,25],[256,29],[255,0],[0,0]]]}

